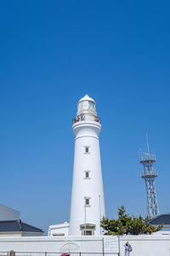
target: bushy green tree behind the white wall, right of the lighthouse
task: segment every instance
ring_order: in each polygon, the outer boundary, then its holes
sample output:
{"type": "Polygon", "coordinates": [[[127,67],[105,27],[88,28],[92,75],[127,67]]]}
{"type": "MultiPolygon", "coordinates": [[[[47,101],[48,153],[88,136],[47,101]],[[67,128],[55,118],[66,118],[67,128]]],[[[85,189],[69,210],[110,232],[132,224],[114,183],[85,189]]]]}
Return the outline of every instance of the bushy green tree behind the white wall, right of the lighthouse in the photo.
{"type": "Polygon", "coordinates": [[[105,230],[105,235],[139,235],[151,234],[162,229],[162,224],[157,228],[150,224],[150,218],[139,218],[129,216],[125,207],[118,208],[118,218],[102,218],[101,227],[105,230]]]}

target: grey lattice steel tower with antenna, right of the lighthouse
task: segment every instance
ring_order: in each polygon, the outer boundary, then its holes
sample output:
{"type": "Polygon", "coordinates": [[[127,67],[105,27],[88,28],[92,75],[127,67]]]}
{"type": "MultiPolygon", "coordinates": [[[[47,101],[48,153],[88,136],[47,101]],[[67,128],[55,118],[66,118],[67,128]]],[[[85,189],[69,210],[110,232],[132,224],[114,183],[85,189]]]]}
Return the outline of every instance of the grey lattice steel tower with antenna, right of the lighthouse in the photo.
{"type": "Polygon", "coordinates": [[[144,166],[144,171],[141,177],[144,178],[146,184],[147,193],[147,212],[150,218],[154,218],[159,215],[159,208],[156,198],[156,183],[155,178],[157,172],[153,168],[153,164],[156,162],[156,154],[150,154],[150,148],[148,143],[148,137],[146,134],[147,153],[141,151],[140,163],[144,166]]]}

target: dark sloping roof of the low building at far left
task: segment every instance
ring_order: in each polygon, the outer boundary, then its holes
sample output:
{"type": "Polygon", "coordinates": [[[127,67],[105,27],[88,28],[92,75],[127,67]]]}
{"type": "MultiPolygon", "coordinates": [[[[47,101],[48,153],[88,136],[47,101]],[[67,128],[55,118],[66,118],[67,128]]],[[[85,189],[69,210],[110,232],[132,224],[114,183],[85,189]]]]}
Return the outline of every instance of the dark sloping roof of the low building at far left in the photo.
{"type": "Polygon", "coordinates": [[[20,219],[0,221],[0,232],[41,232],[34,226],[22,222],[20,219]]]}

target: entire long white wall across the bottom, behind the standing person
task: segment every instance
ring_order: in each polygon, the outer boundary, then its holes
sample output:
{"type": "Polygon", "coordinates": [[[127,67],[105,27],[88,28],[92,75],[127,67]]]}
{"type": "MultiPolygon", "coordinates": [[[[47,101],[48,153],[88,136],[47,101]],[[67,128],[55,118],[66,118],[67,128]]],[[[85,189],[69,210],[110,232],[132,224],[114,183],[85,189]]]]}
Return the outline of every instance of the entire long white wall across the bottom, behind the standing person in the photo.
{"type": "MultiPolygon", "coordinates": [[[[105,251],[105,256],[118,255],[124,256],[123,245],[129,241],[133,247],[130,256],[169,256],[170,255],[170,236],[145,235],[145,236],[60,236],[60,237],[0,237],[0,252],[14,250],[15,252],[30,252],[20,255],[42,256],[41,253],[31,252],[55,252],[59,256],[61,253],[85,253],[82,256],[101,256],[105,251]],[[110,254],[109,254],[110,253],[110,254]],[[114,254],[115,253],[115,254],[114,254]]],[[[19,255],[19,254],[17,254],[19,255]]],[[[43,254],[44,255],[44,254],[43,254]]],[[[50,256],[52,256],[51,254],[50,256]]]]}

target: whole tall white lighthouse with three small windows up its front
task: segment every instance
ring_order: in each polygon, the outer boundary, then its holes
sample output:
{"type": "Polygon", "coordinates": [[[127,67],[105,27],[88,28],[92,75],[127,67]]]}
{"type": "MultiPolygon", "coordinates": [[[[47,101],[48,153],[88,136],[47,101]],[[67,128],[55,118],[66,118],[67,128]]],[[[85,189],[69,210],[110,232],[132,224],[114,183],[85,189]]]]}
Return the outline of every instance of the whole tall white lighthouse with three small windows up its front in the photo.
{"type": "Polygon", "coordinates": [[[101,122],[88,95],[77,105],[73,119],[75,155],[71,193],[70,236],[101,235],[105,200],[99,152],[101,122]]]}

